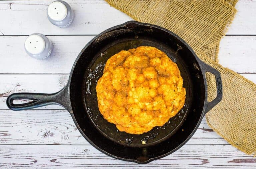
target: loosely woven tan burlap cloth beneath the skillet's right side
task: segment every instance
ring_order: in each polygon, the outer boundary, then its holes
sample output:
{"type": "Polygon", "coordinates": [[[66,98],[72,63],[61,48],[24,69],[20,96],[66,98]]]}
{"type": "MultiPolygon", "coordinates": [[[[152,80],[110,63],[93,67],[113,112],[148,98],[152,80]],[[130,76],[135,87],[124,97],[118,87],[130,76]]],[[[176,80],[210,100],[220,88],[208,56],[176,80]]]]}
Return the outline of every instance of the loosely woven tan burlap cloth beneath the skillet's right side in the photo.
{"type": "MultiPolygon", "coordinates": [[[[182,39],[198,57],[221,73],[223,99],[206,114],[208,125],[247,154],[256,151],[256,85],[218,64],[218,48],[235,13],[237,0],[107,0],[134,20],[159,25],[182,39]]],[[[225,57],[225,56],[223,56],[225,57]]],[[[216,97],[207,73],[208,100],[216,97]]]]}

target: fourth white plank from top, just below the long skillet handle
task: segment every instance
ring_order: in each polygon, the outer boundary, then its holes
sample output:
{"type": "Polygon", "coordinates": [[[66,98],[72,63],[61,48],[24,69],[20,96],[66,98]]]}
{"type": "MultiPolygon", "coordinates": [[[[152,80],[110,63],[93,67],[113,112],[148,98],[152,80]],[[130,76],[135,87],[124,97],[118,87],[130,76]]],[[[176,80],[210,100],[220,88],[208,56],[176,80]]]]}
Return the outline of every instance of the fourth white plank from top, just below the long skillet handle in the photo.
{"type": "MultiPolygon", "coordinates": [[[[66,110],[0,110],[0,144],[89,145],[66,110]]],[[[204,118],[187,144],[228,143],[209,128],[204,118]]]]}

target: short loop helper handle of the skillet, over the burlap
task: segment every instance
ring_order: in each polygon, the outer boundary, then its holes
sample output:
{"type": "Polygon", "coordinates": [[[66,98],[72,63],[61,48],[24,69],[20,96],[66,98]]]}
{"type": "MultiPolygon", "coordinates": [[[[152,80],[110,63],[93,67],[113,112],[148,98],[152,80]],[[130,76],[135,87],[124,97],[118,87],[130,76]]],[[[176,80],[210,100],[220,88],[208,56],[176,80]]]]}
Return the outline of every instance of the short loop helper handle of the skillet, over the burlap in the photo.
{"type": "MultiPolygon", "coordinates": [[[[216,70],[215,68],[213,68],[210,65],[204,63],[203,61],[201,61],[200,66],[202,67],[202,72],[203,72],[203,76],[205,77],[205,79],[206,79],[206,76],[205,76],[206,72],[210,72],[215,76],[216,86],[217,86],[217,96],[213,101],[211,101],[211,102],[207,101],[207,93],[206,93],[205,111],[204,111],[204,114],[206,114],[214,106],[216,106],[222,99],[222,95],[223,95],[223,93],[222,93],[222,80],[221,80],[220,72],[218,70],[216,70]]],[[[206,83],[206,91],[207,91],[207,83],[206,83]]]]}

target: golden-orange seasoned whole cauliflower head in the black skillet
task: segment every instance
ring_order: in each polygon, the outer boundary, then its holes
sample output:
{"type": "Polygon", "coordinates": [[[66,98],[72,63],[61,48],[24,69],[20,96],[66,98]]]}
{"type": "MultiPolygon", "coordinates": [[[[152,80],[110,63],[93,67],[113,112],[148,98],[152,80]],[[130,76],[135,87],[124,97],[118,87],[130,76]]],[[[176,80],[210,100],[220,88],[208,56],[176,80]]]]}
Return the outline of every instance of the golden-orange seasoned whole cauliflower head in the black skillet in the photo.
{"type": "Polygon", "coordinates": [[[96,91],[101,114],[120,131],[142,134],[163,126],[183,107],[186,90],[176,63],[139,46],[110,57],[96,91]]]}

